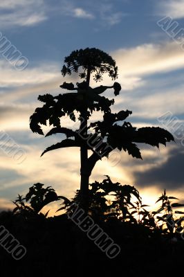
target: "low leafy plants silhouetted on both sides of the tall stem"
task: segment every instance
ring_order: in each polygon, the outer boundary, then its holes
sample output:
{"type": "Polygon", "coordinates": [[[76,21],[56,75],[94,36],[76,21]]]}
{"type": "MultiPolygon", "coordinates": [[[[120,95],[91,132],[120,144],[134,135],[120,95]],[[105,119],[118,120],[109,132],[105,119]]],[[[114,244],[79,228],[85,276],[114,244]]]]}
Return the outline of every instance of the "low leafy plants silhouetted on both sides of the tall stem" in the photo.
{"type": "MultiPolygon", "coordinates": [[[[109,220],[118,220],[126,224],[141,225],[149,230],[150,235],[159,232],[163,235],[175,235],[180,237],[184,231],[184,217],[174,217],[175,215],[183,215],[183,211],[173,211],[173,208],[183,207],[184,204],[172,203],[176,197],[169,197],[166,191],[158,198],[156,203],[162,202],[157,211],[147,211],[142,204],[142,198],[138,190],[134,186],[113,183],[108,175],[106,175],[101,183],[95,181],[89,184],[89,215],[93,217],[95,222],[109,222],[109,220]],[[163,222],[160,224],[160,222],[163,222]]],[[[50,186],[44,188],[43,184],[35,184],[30,187],[26,197],[18,195],[13,202],[16,208],[13,213],[19,214],[24,218],[33,217],[34,215],[43,216],[41,209],[48,203],[53,201],[61,201],[61,208],[66,213],[70,211],[73,204],[81,203],[80,190],[77,190],[73,199],[64,196],[57,196],[57,193],[50,186]]],[[[48,216],[48,212],[44,217],[48,216]]]]}

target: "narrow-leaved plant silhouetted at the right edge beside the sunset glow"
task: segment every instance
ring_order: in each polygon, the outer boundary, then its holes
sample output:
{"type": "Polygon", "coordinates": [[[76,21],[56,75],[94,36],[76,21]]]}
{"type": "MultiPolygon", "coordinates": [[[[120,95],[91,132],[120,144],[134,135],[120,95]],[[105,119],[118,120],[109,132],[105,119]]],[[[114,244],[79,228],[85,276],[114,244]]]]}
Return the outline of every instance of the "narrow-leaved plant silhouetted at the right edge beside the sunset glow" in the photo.
{"type": "Polygon", "coordinates": [[[184,217],[177,217],[176,215],[184,215],[183,211],[174,211],[174,208],[183,207],[184,204],[181,203],[172,203],[174,199],[177,199],[173,196],[168,196],[166,190],[162,193],[162,195],[158,198],[156,203],[161,202],[160,208],[157,211],[152,212],[153,215],[156,215],[158,219],[158,223],[161,222],[161,229],[163,229],[164,233],[170,234],[182,234],[184,217]]]}

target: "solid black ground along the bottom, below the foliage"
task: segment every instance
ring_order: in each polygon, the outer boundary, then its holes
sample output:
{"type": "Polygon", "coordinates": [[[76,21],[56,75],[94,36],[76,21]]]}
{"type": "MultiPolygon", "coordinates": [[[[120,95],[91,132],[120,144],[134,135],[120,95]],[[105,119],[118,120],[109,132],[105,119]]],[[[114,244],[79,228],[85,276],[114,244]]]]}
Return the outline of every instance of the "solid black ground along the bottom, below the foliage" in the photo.
{"type": "Polygon", "coordinates": [[[118,220],[95,223],[120,245],[116,258],[107,258],[66,215],[25,220],[1,213],[0,225],[27,249],[24,258],[14,260],[0,247],[1,277],[183,275],[183,240],[173,244],[160,233],[118,220]]]}

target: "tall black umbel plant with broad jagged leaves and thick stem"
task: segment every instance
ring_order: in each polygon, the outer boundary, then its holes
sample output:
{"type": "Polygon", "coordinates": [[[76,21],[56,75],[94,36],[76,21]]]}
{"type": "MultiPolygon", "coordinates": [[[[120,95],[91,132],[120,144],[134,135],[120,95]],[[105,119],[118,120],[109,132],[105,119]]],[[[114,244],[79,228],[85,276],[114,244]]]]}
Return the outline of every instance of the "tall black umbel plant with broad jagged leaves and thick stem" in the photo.
{"type": "Polygon", "coordinates": [[[162,143],[166,145],[169,141],[174,141],[172,134],[160,127],[142,127],[137,129],[131,123],[124,121],[131,111],[111,112],[111,105],[114,100],[109,100],[101,93],[107,89],[113,89],[114,95],[118,96],[121,86],[114,82],[111,86],[90,87],[91,75],[98,82],[102,80],[102,75],[107,73],[112,80],[118,78],[118,67],[115,60],[96,48],[80,49],[73,51],[71,55],[65,57],[62,75],[71,75],[74,71],[79,73],[83,82],[77,82],[76,86],[71,82],[64,82],[60,87],[70,93],[52,96],[45,94],[39,96],[38,100],[44,102],[43,107],[37,107],[35,113],[30,116],[30,129],[38,134],[44,134],[41,125],[53,125],[53,128],[46,134],[64,134],[66,139],[51,145],[44,152],[59,148],[80,148],[80,199],[81,206],[85,211],[89,208],[89,177],[99,160],[109,157],[113,150],[127,151],[132,157],[142,159],[140,150],[136,143],[147,143],[159,147],[162,143]],[[102,111],[103,121],[89,124],[89,117],[93,111],[102,111]],[[68,129],[62,127],[60,119],[69,116],[71,120],[79,120],[79,129],[68,129]],[[77,118],[76,118],[77,116],[77,118]],[[121,124],[120,124],[121,122],[121,124]],[[89,154],[92,150],[92,154],[89,154]]]}

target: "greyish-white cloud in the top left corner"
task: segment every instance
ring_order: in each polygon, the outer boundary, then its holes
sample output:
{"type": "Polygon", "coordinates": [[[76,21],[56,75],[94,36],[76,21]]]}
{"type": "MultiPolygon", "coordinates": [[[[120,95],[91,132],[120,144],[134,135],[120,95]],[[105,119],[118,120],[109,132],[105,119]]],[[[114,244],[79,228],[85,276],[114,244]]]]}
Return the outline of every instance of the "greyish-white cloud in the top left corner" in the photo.
{"type": "Polygon", "coordinates": [[[5,0],[0,3],[1,28],[33,26],[46,19],[44,0],[5,0]]]}

